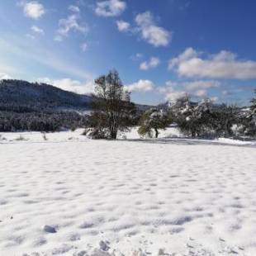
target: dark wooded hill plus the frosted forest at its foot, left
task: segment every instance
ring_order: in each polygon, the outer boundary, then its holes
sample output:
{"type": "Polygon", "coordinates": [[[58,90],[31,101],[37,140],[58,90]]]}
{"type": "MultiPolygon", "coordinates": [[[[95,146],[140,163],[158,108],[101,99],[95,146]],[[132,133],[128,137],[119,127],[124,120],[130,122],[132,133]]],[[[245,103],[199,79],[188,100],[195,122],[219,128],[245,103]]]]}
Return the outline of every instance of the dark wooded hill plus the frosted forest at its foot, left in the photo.
{"type": "Polygon", "coordinates": [[[45,83],[0,81],[0,131],[55,131],[83,127],[91,97],[45,83]]]}

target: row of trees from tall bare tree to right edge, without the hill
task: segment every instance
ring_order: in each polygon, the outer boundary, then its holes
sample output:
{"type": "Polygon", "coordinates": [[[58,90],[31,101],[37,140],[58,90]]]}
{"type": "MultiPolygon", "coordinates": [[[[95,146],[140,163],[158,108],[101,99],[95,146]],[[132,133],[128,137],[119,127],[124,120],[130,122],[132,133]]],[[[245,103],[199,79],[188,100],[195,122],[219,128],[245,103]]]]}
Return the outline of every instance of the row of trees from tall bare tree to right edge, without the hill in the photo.
{"type": "Polygon", "coordinates": [[[141,136],[158,137],[175,123],[184,135],[191,137],[250,137],[256,136],[256,98],[251,107],[214,104],[210,99],[192,102],[180,97],[170,107],[152,107],[136,112],[130,102],[119,74],[111,71],[95,80],[96,92],[92,98],[92,115],[88,117],[85,134],[94,139],[116,139],[118,132],[139,126],[141,136]]]}

